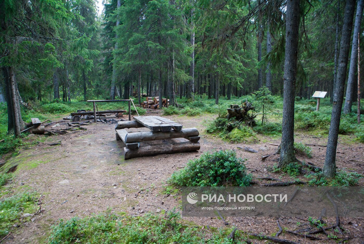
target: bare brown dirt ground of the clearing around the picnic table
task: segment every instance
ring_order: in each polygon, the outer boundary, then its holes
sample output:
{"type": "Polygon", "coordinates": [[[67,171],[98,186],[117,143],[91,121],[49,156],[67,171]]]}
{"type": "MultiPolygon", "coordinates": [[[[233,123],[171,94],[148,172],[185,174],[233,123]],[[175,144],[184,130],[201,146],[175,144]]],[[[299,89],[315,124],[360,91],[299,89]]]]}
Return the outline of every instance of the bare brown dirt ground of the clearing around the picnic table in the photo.
{"type": "MultiPolygon", "coordinates": [[[[151,114],[155,115],[155,114],[151,114]]],[[[100,213],[107,208],[113,211],[124,211],[131,215],[143,215],[145,212],[170,210],[178,206],[178,199],[163,196],[163,182],[187,161],[194,159],[206,151],[220,149],[236,149],[240,157],[247,158],[246,165],[254,175],[275,176],[269,167],[276,163],[278,156],[271,156],[264,162],[262,155],[272,154],[277,147],[269,143],[279,141],[268,137],[259,137],[260,142],[249,147],[258,153],[249,153],[237,149],[244,144],[229,144],[221,139],[205,135],[205,119],[210,117],[166,116],[179,121],[183,127],[196,127],[201,135],[201,150],[190,153],[157,155],[123,160],[121,143],[115,140],[115,125],[90,124],[87,131],[75,132],[71,135],[49,137],[51,141],[21,151],[19,156],[9,163],[18,165],[16,177],[8,186],[9,191],[17,192],[28,189],[44,195],[42,207],[46,211],[42,215],[32,216],[20,228],[12,231],[13,238],[4,240],[8,243],[44,243],[50,226],[59,219],[89,216],[100,213]],[[62,141],[61,145],[50,146],[47,143],[62,141]]],[[[137,129],[131,129],[131,131],[137,129]]],[[[310,135],[297,135],[299,141],[311,144],[326,144],[325,138],[313,138],[310,135]],[[300,140],[301,138],[301,140],[300,140]]],[[[363,145],[340,145],[337,155],[338,167],[351,168],[364,173],[363,145]]],[[[323,165],[325,147],[313,147],[314,158],[311,161],[318,166],[323,165]]],[[[280,175],[282,176],[282,175],[280,175]]],[[[284,179],[287,176],[283,176],[284,179]]],[[[363,185],[363,181],[360,183],[363,185]]],[[[223,227],[217,218],[189,218],[199,225],[223,227]]],[[[275,219],[227,218],[231,225],[254,233],[266,232],[270,235],[277,231],[275,219]]],[[[358,220],[356,220],[358,221],[358,220]]],[[[286,219],[281,225],[294,226],[297,220],[286,219]]],[[[345,224],[345,220],[343,220],[345,224]]],[[[347,228],[347,226],[345,226],[347,228]]],[[[363,232],[361,226],[356,227],[363,232]]],[[[353,230],[355,231],[355,229],[353,230]]],[[[290,236],[290,240],[298,240],[290,236]]],[[[359,240],[359,239],[358,239],[359,240]]],[[[263,241],[262,241],[263,243],[263,241]]],[[[353,242],[355,243],[355,242],[353,242]]]]}

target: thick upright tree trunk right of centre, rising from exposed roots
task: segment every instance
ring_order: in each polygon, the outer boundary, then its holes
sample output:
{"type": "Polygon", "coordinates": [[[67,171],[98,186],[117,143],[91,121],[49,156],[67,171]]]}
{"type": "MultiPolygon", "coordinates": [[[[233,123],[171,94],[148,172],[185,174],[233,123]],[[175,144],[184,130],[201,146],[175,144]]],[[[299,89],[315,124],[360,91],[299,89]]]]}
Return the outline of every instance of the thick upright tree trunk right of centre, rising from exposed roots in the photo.
{"type": "Polygon", "coordinates": [[[294,155],[294,90],[297,74],[298,25],[300,0],[287,0],[286,47],[283,76],[283,121],[281,155],[278,167],[295,162],[294,155]]]}

